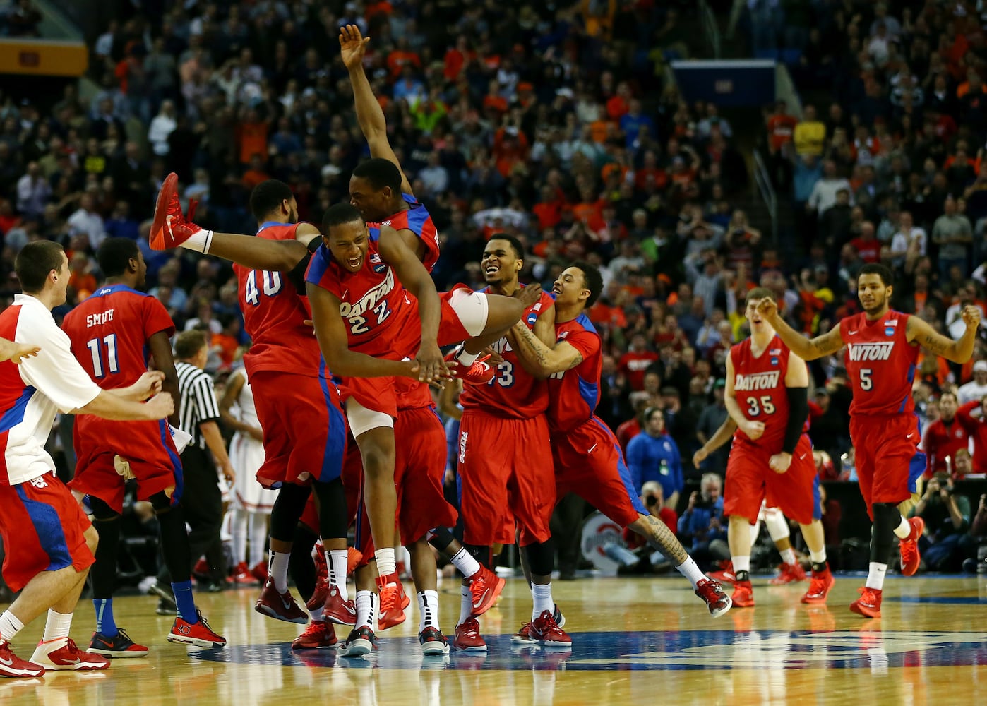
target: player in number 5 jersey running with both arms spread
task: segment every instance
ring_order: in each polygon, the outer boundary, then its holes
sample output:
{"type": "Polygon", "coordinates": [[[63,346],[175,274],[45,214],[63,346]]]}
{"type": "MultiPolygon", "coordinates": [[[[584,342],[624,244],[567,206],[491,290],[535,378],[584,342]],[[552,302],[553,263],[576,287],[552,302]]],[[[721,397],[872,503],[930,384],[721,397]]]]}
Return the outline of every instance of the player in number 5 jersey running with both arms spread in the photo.
{"type": "Polygon", "coordinates": [[[905,519],[898,504],[912,496],[909,464],[919,443],[918,418],[912,399],[912,382],[919,346],[929,353],[963,363],[973,353],[980,310],[963,307],[966,331],[958,341],[936,333],[917,316],[890,308],[891,271],[868,264],[857,275],[857,296],[864,311],[848,316],[822,336],[806,339],[789,326],[769,297],[758,311],[798,357],[811,360],[831,355],[846,346],[847,376],[853,381],[850,404],[850,437],[857,454],[861,494],[873,519],[871,568],[861,597],[850,609],[865,617],[880,617],[884,573],[899,540],[901,573],[913,575],[919,567],[918,539],[925,528],[920,517],[905,519]]]}

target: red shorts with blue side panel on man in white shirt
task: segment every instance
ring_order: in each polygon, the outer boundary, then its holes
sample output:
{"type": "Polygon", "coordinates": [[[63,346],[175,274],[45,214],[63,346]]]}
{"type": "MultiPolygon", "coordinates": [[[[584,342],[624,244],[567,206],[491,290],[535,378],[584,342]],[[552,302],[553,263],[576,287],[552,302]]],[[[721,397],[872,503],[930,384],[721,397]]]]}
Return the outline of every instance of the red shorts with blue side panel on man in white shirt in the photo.
{"type": "Polygon", "coordinates": [[[71,491],[53,472],[16,486],[0,485],[7,586],[17,592],[42,571],[88,569],[96,561],[84,536],[90,526],[71,491]]]}

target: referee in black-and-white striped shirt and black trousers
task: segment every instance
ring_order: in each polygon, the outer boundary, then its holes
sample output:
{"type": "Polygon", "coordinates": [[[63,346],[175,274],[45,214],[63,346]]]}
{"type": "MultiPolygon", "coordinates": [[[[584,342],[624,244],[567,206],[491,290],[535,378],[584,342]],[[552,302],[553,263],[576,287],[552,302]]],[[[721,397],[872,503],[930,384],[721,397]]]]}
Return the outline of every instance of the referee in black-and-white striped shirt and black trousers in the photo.
{"type": "MultiPolygon", "coordinates": [[[[223,544],[219,537],[223,522],[223,500],[219,490],[216,465],[228,481],[234,471],[226,455],[226,444],[219,432],[219,404],[212,391],[212,378],[203,368],[209,348],[201,331],[186,331],[175,340],[175,371],[179,376],[179,421],[182,431],[191,441],[182,452],[185,490],[182,506],[191,527],[189,544],[192,566],[204,556],[209,565],[208,581],[199,590],[222,590],[226,579],[223,544]]],[[[158,583],[167,586],[167,570],[158,576],[158,583]]]]}

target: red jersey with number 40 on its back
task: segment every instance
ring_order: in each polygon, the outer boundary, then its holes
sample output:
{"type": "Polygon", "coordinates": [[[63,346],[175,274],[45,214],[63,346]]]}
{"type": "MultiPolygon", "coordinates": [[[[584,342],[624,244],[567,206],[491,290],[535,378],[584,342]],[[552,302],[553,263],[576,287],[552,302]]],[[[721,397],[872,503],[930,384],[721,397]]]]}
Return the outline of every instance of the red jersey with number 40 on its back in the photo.
{"type": "MultiPolygon", "coordinates": [[[[297,223],[267,222],[261,225],[258,238],[294,240],[297,223]]],[[[293,372],[318,376],[322,371],[322,354],[312,326],[308,299],[295,290],[284,273],[249,270],[233,266],[237,275],[240,310],[244,329],[253,345],[244,354],[247,373],[260,370],[293,372]]]]}

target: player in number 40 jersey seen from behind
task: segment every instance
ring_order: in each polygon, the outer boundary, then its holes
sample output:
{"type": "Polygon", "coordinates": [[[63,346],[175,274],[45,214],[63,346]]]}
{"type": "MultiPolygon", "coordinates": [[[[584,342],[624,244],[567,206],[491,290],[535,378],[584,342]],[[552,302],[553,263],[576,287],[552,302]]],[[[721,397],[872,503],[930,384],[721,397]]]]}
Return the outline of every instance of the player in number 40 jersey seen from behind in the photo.
{"type": "MultiPolygon", "coordinates": [[[[330,581],[337,588],[330,591],[322,613],[333,622],[352,624],[352,601],[345,585],[346,512],[340,480],[345,420],[339,392],[322,361],[312,327],[305,323],[310,318],[304,295],[306,246],[319,244],[319,232],[309,223],[298,222],[295,197],[286,184],[276,180],[258,185],[251,194],[251,210],[259,227],[256,237],[202,231],[186,222],[177,182],[177,176],[169,175],[162,186],[151,247],[182,246],[234,261],[244,328],[253,339],[244,364],[264,430],[265,462],[257,476],[266,488],[279,488],[270,513],[268,577],[255,607],[279,620],[307,622],[288,590],[287,575],[295,527],[314,489],[323,509],[319,522],[330,581]]],[[[327,629],[325,637],[335,642],[332,630],[327,629]]]]}

